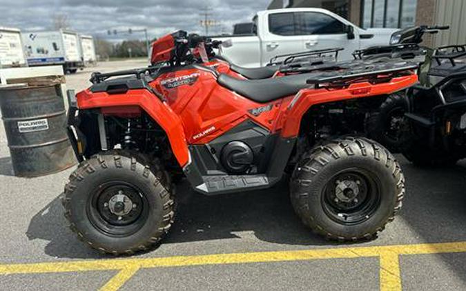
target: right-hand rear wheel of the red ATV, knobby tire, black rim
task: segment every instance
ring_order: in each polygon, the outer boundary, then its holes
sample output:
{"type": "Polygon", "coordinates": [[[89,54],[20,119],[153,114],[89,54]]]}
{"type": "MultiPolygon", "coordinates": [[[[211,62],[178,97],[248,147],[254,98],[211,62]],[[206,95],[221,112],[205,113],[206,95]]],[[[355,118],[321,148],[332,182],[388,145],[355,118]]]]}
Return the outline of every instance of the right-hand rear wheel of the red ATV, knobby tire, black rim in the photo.
{"type": "Polygon", "coordinates": [[[385,148],[344,137],[318,145],[296,165],[291,203],[305,225],[338,241],[372,239],[402,205],[405,179],[385,148]]]}

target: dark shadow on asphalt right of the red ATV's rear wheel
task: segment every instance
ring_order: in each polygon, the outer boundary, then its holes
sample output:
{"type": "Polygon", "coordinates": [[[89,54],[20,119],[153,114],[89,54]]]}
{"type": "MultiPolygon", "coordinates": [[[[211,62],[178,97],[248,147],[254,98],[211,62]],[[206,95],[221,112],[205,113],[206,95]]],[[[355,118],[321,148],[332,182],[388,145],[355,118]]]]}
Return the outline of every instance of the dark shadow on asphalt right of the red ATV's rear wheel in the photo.
{"type": "MultiPolygon", "coordinates": [[[[405,163],[407,197],[400,217],[425,243],[466,241],[466,163],[451,168],[418,168],[405,163]]],[[[438,255],[466,282],[462,267],[438,255]]]]}

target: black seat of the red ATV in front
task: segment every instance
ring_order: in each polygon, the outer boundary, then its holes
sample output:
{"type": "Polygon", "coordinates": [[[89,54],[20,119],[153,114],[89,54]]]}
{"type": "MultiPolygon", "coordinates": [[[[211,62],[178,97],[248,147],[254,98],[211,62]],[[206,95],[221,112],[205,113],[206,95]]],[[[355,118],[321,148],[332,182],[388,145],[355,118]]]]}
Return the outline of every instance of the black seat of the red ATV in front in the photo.
{"type": "Polygon", "coordinates": [[[258,103],[266,103],[298,93],[309,87],[306,83],[313,74],[296,74],[273,79],[240,80],[227,74],[220,74],[217,83],[258,103]]]}

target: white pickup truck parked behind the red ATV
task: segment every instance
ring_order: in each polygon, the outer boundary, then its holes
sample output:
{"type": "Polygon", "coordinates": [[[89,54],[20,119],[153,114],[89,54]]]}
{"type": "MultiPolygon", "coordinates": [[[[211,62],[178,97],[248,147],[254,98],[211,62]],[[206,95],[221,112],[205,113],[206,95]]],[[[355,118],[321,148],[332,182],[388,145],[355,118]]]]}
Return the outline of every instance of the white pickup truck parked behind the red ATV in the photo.
{"type": "Polygon", "coordinates": [[[225,41],[222,56],[237,66],[266,66],[280,54],[307,50],[344,48],[338,60],[352,59],[355,50],[388,45],[397,29],[362,29],[329,10],[287,8],[258,12],[253,18],[255,33],[214,37],[225,41]]]}

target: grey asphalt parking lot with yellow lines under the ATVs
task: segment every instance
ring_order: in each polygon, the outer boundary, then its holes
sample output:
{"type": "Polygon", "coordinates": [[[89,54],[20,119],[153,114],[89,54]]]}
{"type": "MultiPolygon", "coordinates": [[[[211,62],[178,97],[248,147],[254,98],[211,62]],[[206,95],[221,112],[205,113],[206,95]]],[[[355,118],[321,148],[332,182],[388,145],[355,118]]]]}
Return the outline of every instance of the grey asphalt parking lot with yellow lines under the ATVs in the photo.
{"type": "MultiPolygon", "coordinates": [[[[101,63],[67,77],[88,86],[101,63]]],[[[405,172],[402,211],[374,241],[329,243],[293,213],[287,183],[204,197],[179,185],[171,234],[155,250],[115,258],[91,250],[66,227],[59,195],[72,169],[13,176],[0,126],[0,290],[465,290],[466,161],[405,172]]]]}

